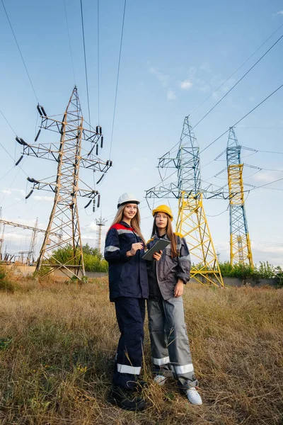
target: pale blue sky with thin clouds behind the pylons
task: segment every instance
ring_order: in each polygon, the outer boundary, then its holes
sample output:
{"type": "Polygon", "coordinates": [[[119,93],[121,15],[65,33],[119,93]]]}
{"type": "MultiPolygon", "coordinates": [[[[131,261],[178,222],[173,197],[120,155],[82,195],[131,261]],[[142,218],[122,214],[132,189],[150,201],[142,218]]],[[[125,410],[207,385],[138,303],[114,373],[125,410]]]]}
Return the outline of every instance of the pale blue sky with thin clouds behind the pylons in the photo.
{"type": "MultiPolygon", "coordinates": [[[[79,0],[65,0],[70,30],[71,55],[64,0],[50,1],[48,7],[35,0],[5,1],[6,10],[21,48],[36,96],[47,114],[63,113],[74,87],[78,86],[83,115],[88,120],[86,79],[83,60],[81,11],[79,0]],[[75,74],[75,78],[74,78],[75,74]]],[[[100,1],[100,125],[103,126],[104,148],[108,159],[112,116],[120,48],[123,0],[100,1]]],[[[32,142],[40,123],[37,100],[21,62],[16,42],[0,3],[0,110],[16,133],[32,142]]],[[[91,123],[98,124],[98,50],[97,3],[83,0],[83,18],[88,64],[91,123]]],[[[85,212],[85,201],[79,200],[83,242],[96,243],[95,219],[108,217],[110,225],[117,198],[126,191],[141,200],[144,191],[158,183],[158,157],[178,142],[185,115],[190,114],[209,95],[207,102],[190,115],[192,125],[209,111],[233,84],[283,34],[283,27],[236,73],[219,91],[221,85],[272,33],[283,24],[282,1],[127,1],[120,64],[120,81],[112,140],[113,167],[99,187],[101,210],[85,212]],[[214,93],[214,94],[213,94],[214,93]]],[[[255,107],[282,84],[283,55],[280,40],[260,63],[231,91],[212,113],[195,128],[202,150],[245,113],[255,107]]],[[[236,128],[241,145],[260,150],[283,152],[283,89],[262,104],[236,128]]],[[[18,159],[13,131],[0,114],[1,145],[18,159]]],[[[44,135],[42,140],[49,140],[44,135]]],[[[202,179],[207,180],[226,166],[214,161],[227,144],[221,137],[201,155],[202,179]]],[[[39,217],[40,227],[47,225],[52,208],[52,194],[30,191],[26,176],[0,147],[0,203],[4,219],[33,225],[39,217]],[[9,172],[8,172],[9,171],[9,172]],[[5,174],[8,173],[6,176],[5,174]]],[[[283,177],[282,154],[258,152],[250,157],[242,152],[243,162],[262,169],[246,167],[245,182],[260,186],[283,177]],[[245,157],[245,158],[244,158],[245,157]],[[279,171],[273,171],[279,170],[279,171]],[[282,171],[281,171],[282,170],[282,171]]],[[[225,157],[221,157],[225,159],[225,157]]],[[[25,158],[22,168],[35,179],[56,173],[56,164],[25,158]]],[[[83,174],[91,183],[92,176],[83,174]]],[[[225,173],[219,175],[225,179],[225,173]]],[[[225,180],[210,179],[221,186],[225,180]]],[[[246,189],[248,186],[246,186],[246,189]]],[[[282,181],[267,188],[250,191],[246,213],[255,262],[270,261],[283,265],[281,224],[282,181]],[[267,189],[268,188],[268,189],[267,189]],[[275,190],[279,189],[279,190],[275,190]]],[[[176,214],[177,205],[171,202],[176,214]]],[[[204,203],[209,227],[220,260],[229,258],[229,212],[224,200],[204,203]],[[222,212],[221,215],[219,215],[222,212]]],[[[142,229],[145,237],[151,231],[150,210],[141,203],[142,229]]],[[[106,231],[106,227],[104,231],[106,231]]],[[[40,248],[38,237],[37,251],[40,248]]],[[[30,233],[6,228],[4,244],[9,252],[28,249],[30,233]]]]}

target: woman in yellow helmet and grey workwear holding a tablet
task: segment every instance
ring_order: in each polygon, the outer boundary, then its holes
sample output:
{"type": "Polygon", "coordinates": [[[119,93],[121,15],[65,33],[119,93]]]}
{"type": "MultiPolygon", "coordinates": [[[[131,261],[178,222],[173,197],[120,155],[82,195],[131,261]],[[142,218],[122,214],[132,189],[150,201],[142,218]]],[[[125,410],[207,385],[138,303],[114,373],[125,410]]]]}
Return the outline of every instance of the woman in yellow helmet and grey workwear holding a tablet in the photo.
{"type": "Polygon", "coordinates": [[[149,334],[151,356],[154,363],[154,380],[163,385],[168,376],[178,380],[180,392],[187,395],[192,404],[202,404],[195,389],[195,378],[189,340],[184,319],[183,286],[190,279],[190,252],[182,235],[174,233],[171,222],[173,215],[167,205],[159,205],[152,212],[154,225],[151,248],[158,239],[171,242],[163,253],[148,262],[149,334]]]}

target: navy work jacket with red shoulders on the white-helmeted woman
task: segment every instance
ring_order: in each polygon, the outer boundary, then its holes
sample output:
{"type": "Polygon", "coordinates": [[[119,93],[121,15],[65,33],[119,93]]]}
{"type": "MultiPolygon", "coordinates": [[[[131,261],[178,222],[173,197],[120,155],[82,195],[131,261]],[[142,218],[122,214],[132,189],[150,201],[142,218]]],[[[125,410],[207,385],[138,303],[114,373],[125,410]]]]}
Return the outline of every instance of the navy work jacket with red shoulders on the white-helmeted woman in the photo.
{"type": "Polygon", "coordinates": [[[126,255],[137,242],[142,242],[141,238],[126,222],[112,225],[108,230],[104,257],[109,263],[110,301],[117,297],[149,297],[146,261],[141,259],[144,249],[134,256],[126,255]]]}

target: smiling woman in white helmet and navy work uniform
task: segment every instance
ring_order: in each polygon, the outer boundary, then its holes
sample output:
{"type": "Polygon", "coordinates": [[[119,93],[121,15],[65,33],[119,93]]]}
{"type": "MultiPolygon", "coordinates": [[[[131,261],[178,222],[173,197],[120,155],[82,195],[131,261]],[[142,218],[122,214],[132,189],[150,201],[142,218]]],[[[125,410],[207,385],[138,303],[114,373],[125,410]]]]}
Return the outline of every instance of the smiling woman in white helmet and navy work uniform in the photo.
{"type": "Polygon", "coordinates": [[[110,301],[115,302],[120,340],[109,401],[127,410],[142,410],[144,399],[137,390],[141,370],[145,299],[149,296],[144,238],[140,229],[139,200],[120,196],[117,214],[105,240],[109,263],[110,301]]]}

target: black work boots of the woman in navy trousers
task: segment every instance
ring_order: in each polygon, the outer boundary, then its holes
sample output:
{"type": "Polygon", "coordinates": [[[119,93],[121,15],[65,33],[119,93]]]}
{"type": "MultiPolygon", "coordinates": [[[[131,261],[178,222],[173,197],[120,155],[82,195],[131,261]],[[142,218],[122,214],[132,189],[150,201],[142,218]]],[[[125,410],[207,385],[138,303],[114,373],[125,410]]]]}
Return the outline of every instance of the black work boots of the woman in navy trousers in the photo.
{"type": "Polygon", "coordinates": [[[135,390],[125,390],[121,387],[115,387],[115,385],[111,387],[108,402],[121,407],[121,409],[131,411],[141,411],[146,406],[145,400],[141,396],[137,396],[135,390]]]}

